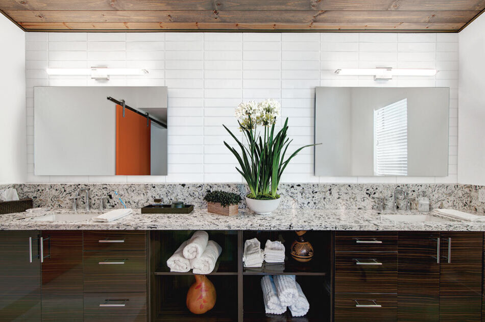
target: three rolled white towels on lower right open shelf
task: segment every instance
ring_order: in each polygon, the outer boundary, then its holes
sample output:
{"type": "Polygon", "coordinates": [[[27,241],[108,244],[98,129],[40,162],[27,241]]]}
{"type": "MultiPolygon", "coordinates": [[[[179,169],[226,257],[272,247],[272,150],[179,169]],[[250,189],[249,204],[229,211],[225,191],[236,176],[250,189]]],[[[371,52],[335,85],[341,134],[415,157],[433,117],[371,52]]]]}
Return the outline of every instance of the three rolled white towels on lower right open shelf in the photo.
{"type": "Polygon", "coordinates": [[[266,313],[283,314],[289,307],[293,316],[303,316],[310,309],[295,275],[265,275],[261,279],[261,289],[266,313]]]}

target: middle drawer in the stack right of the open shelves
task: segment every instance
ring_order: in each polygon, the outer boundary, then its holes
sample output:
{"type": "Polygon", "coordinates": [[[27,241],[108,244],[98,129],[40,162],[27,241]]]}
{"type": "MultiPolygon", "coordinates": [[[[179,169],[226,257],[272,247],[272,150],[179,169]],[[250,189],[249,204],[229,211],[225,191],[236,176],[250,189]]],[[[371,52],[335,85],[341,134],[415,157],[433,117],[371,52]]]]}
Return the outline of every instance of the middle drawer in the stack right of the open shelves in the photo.
{"type": "Polygon", "coordinates": [[[397,292],[397,253],[335,253],[335,292],[397,292]]]}

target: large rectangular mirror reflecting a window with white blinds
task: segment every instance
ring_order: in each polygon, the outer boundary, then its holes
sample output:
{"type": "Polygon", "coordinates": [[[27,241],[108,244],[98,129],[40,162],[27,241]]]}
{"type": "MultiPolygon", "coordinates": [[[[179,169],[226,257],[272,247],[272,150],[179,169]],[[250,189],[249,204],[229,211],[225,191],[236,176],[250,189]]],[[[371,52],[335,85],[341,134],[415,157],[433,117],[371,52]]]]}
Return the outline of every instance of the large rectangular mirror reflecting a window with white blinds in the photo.
{"type": "Polygon", "coordinates": [[[449,88],[317,87],[315,175],[448,175],[449,88]]]}

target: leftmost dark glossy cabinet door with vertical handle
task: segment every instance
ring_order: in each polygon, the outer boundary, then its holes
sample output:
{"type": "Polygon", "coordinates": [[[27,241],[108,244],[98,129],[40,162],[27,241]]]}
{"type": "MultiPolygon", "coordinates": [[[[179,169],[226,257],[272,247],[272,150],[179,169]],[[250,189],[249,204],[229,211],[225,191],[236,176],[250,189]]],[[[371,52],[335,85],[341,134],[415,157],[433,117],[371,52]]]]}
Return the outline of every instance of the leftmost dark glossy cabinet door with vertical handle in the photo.
{"type": "Polygon", "coordinates": [[[38,237],[38,231],[0,231],[0,322],[40,322],[38,237]]]}

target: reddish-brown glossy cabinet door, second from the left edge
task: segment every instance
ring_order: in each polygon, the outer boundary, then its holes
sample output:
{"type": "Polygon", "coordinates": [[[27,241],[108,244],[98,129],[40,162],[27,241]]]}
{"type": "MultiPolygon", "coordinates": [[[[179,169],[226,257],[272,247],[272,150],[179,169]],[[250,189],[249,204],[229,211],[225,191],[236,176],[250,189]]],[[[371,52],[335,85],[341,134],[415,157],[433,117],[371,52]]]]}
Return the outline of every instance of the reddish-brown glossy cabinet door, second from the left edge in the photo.
{"type": "Polygon", "coordinates": [[[43,231],[42,238],[42,322],[82,322],[82,231],[43,231]]]}

